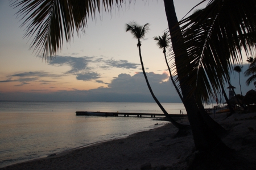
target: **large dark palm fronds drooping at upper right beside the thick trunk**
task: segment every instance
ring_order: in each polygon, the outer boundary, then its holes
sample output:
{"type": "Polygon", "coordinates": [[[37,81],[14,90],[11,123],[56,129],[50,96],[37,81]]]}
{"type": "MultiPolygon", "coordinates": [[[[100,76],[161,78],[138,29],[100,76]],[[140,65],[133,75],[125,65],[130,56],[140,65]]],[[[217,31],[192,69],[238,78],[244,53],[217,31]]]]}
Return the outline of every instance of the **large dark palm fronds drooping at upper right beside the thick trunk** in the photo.
{"type": "MultiPolygon", "coordinates": [[[[192,93],[207,102],[229,80],[234,63],[255,52],[255,0],[210,0],[207,7],[180,21],[192,93]]],[[[179,67],[179,65],[176,65],[179,67]]]]}

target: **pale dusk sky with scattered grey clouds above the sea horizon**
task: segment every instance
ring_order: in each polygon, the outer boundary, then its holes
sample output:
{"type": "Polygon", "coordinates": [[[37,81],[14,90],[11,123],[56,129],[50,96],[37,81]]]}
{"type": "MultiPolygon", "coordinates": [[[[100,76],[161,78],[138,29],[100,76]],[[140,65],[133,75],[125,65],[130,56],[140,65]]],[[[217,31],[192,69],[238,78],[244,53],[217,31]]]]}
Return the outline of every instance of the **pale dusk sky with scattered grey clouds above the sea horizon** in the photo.
{"type": "MultiPolygon", "coordinates": [[[[175,0],[178,20],[199,0],[175,0]]],[[[162,50],[153,40],[168,28],[163,1],[126,3],[112,13],[89,20],[85,34],[75,34],[53,60],[44,60],[24,38],[26,27],[16,18],[18,8],[0,1],[0,100],[154,102],[144,80],[137,40],[125,24],[150,23],[142,40],[142,57],[148,80],[160,102],[181,102],[172,85],[162,50]]],[[[243,59],[245,71],[248,64],[243,59]]],[[[245,79],[245,77],[241,76],[245,79]]],[[[241,79],[241,82],[243,80],[241,79]]],[[[240,93],[238,74],[232,85],[240,93]]],[[[243,93],[254,89],[242,82],[243,93]]]]}

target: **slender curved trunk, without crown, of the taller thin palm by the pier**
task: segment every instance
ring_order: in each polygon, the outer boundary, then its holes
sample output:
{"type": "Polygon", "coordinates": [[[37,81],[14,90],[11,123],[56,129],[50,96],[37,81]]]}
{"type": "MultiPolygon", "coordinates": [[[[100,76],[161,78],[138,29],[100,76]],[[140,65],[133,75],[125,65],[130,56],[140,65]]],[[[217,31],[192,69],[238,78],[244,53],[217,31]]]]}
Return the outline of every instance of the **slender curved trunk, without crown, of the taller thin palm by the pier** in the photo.
{"type": "Polygon", "coordinates": [[[153,93],[152,89],[151,89],[151,86],[148,82],[148,79],[147,79],[147,75],[146,75],[146,72],[145,72],[145,69],[144,69],[144,65],[143,65],[143,61],[142,61],[142,56],[141,56],[141,45],[140,45],[140,40],[138,39],[138,48],[139,48],[139,59],[141,60],[141,67],[142,67],[142,71],[143,71],[143,74],[144,74],[144,77],[145,77],[145,80],[147,82],[147,87],[148,89],[150,90],[150,93],[152,95],[152,97],[154,98],[155,102],[158,104],[158,106],[160,107],[160,109],[163,111],[164,115],[166,115],[166,117],[170,120],[170,122],[177,128],[181,129],[181,128],[187,128],[188,126],[187,125],[181,125],[180,123],[177,123],[172,117],[171,115],[169,115],[167,113],[167,111],[164,109],[164,107],[161,105],[161,103],[158,101],[158,99],[155,97],[155,94],[153,93]]]}

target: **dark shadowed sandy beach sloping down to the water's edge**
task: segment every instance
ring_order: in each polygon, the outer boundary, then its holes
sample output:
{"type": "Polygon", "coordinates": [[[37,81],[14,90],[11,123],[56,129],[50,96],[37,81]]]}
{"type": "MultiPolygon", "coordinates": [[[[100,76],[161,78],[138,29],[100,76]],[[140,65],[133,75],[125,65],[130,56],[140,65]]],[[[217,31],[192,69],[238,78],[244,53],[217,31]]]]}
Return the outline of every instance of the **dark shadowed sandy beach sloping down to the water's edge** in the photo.
{"type": "MultiPolygon", "coordinates": [[[[211,115],[213,117],[213,115],[211,115]]],[[[214,115],[229,130],[222,141],[230,148],[256,160],[256,113],[214,115]]],[[[180,119],[188,124],[187,118],[180,119]]],[[[157,123],[157,122],[156,122],[157,123]]],[[[138,132],[123,139],[93,144],[43,159],[10,165],[1,169],[186,169],[195,157],[193,136],[173,138],[171,123],[138,132]]],[[[256,169],[255,166],[251,169],[256,169]]]]}

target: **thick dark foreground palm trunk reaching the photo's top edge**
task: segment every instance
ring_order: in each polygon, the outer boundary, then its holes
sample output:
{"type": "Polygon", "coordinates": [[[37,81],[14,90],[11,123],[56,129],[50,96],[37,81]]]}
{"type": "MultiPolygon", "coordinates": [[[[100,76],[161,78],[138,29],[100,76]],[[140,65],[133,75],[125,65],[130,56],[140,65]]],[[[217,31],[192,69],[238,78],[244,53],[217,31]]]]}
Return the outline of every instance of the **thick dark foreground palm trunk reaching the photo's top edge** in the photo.
{"type": "Polygon", "coordinates": [[[218,138],[216,134],[214,134],[212,129],[209,128],[207,123],[204,121],[204,118],[199,113],[199,108],[197,107],[195,98],[187,97],[190,86],[185,82],[186,76],[180,73],[181,70],[186,67],[186,64],[183,63],[183,59],[188,55],[187,49],[184,48],[183,36],[181,34],[180,27],[177,26],[178,22],[173,0],[164,0],[164,6],[171,35],[172,48],[175,53],[177,76],[180,81],[181,92],[184,99],[183,103],[187,110],[196,149],[199,151],[211,150],[216,147],[216,144],[225,147],[225,144],[222,143],[221,139],[218,138]]]}

